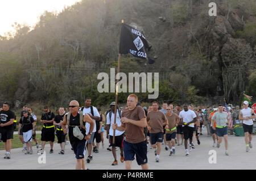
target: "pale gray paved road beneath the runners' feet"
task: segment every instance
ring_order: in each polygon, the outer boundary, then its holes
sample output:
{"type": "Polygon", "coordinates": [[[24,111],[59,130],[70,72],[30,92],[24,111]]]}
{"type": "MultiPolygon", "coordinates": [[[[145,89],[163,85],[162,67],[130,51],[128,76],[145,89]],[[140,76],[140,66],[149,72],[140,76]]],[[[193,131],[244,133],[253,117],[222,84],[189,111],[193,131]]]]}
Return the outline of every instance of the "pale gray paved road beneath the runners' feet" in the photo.
{"type": "MultiPolygon", "coordinates": [[[[162,145],[162,153],[160,154],[160,162],[155,162],[154,149],[150,149],[148,156],[149,169],[255,169],[256,166],[256,136],[253,136],[254,148],[249,153],[245,152],[244,137],[229,136],[229,156],[224,155],[224,143],[220,148],[212,147],[212,138],[205,136],[200,137],[201,144],[196,144],[196,149],[193,149],[188,157],[185,156],[184,146],[176,146],[176,155],[168,156],[169,151],[164,150],[162,145]],[[209,150],[217,151],[217,163],[210,164],[208,159],[210,157],[209,150]]],[[[108,140],[104,140],[105,145],[108,145],[108,140]]],[[[71,150],[71,145],[65,148],[65,154],[58,154],[60,146],[55,144],[54,153],[49,154],[49,144],[46,145],[46,163],[38,163],[40,155],[36,154],[36,147],[33,147],[34,154],[25,155],[22,153],[22,148],[11,150],[11,159],[3,159],[5,150],[0,150],[0,170],[3,169],[75,169],[76,159],[75,154],[71,150]]],[[[119,150],[117,151],[119,161],[119,150]]],[[[87,157],[87,151],[86,151],[87,157]]],[[[113,162],[112,152],[102,149],[100,146],[100,153],[93,154],[93,161],[86,163],[86,167],[92,170],[118,170],[125,169],[125,163],[118,162],[118,166],[112,166],[113,162]]],[[[134,161],[132,169],[141,169],[134,161]]]]}

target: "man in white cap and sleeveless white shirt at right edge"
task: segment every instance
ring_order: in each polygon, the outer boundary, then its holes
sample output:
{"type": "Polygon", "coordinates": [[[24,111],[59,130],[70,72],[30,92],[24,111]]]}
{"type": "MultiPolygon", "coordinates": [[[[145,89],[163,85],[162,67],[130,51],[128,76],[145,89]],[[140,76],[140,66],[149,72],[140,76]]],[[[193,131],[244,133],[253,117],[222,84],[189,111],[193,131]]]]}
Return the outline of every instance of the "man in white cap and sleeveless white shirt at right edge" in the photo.
{"type": "Polygon", "coordinates": [[[240,111],[239,120],[243,121],[243,132],[245,132],[245,145],[246,151],[249,151],[250,148],[253,148],[251,145],[251,140],[253,139],[253,119],[256,117],[254,111],[248,107],[249,102],[245,100],[243,102],[243,109],[240,111]]]}

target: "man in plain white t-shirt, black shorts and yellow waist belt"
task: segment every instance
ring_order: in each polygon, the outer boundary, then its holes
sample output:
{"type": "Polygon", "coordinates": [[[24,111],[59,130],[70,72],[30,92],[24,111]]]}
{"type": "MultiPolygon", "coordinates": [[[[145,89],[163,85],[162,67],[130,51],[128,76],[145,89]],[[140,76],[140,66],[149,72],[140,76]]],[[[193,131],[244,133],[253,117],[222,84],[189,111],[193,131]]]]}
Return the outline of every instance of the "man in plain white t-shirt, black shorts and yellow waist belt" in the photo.
{"type": "Polygon", "coordinates": [[[183,134],[184,134],[184,146],[185,146],[185,155],[189,155],[188,153],[188,139],[189,139],[189,151],[192,150],[192,138],[193,138],[193,130],[194,123],[197,121],[197,117],[195,112],[188,109],[188,105],[183,105],[184,110],[180,112],[180,123],[183,126],[183,134]]]}

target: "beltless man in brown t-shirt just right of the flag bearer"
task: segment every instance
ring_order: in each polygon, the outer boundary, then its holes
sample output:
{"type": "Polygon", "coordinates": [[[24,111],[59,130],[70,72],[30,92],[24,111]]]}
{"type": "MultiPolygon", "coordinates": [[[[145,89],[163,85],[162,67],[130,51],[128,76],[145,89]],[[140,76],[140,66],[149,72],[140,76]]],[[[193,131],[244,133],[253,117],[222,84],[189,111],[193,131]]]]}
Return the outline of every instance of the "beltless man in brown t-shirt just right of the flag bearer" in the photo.
{"type": "Polygon", "coordinates": [[[155,148],[156,162],[159,162],[161,144],[163,142],[163,126],[168,120],[163,112],[159,111],[158,102],[152,102],[153,111],[147,114],[147,129],[150,131],[152,147],[155,148]]]}

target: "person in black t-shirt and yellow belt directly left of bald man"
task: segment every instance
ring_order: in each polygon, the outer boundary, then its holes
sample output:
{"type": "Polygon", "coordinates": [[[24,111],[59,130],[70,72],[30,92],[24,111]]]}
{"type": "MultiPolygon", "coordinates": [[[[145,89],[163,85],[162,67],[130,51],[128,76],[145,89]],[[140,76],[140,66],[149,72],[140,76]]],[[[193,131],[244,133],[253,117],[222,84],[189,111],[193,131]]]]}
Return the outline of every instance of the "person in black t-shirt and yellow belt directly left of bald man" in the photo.
{"type": "Polygon", "coordinates": [[[56,136],[58,139],[58,144],[60,144],[60,149],[61,151],[59,152],[59,154],[64,154],[64,149],[65,149],[65,137],[66,134],[63,133],[63,129],[61,129],[61,123],[63,121],[63,117],[65,115],[64,113],[64,108],[60,107],[58,112],[59,115],[57,115],[53,121],[53,125],[56,126],[56,136]]]}

